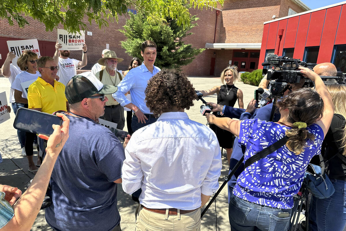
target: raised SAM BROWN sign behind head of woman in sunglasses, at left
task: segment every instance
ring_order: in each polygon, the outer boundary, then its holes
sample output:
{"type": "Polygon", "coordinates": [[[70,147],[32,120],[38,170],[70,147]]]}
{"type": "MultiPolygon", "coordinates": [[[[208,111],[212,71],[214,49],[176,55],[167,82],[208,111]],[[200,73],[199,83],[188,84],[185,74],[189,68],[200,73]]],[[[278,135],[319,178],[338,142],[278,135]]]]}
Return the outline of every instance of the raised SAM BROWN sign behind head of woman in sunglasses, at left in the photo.
{"type": "Polygon", "coordinates": [[[30,50],[40,56],[40,48],[38,47],[37,39],[12,40],[7,41],[8,50],[16,54],[12,63],[17,66],[17,60],[21,53],[25,50],[30,50]]]}

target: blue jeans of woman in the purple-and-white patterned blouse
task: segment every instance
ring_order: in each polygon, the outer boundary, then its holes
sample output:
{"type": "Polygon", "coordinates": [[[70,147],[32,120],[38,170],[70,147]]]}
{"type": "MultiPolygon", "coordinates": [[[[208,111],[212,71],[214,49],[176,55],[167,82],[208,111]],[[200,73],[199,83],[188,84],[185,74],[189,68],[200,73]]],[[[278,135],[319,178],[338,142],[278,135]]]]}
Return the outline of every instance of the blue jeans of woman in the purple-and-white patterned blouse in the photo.
{"type": "Polygon", "coordinates": [[[290,216],[277,217],[280,212],[288,212],[291,215],[292,208],[258,205],[232,195],[228,217],[232,231],[286,231],[290,224],[290,216]]]}

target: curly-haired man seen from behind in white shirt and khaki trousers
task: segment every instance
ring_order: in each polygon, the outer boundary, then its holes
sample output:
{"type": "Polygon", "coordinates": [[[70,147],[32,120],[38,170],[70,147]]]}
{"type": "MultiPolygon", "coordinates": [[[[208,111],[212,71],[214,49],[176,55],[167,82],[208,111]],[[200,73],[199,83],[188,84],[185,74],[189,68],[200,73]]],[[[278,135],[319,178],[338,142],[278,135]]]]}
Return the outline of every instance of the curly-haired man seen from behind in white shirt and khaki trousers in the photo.
{"type": "Polygon", "coordinates": [[[146,99],[147,107],[160,117],[125,140],[121,169],[126,193],[142,188],[136,231],[200,230],[200,207],[219,187],[217,137],[184,112],[196,94],[178,71],[163,69],[151,78],[146,99]]]}

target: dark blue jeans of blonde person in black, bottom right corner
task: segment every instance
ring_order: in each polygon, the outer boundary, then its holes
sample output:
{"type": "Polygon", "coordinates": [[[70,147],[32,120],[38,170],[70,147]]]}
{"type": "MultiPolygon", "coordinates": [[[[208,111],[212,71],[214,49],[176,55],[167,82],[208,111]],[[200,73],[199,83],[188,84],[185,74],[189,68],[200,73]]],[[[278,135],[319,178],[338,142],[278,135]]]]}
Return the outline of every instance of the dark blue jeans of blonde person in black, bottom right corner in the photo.
{"type": "Polygon", "coordinates": [[[330,179],[335,192],[329,198],[312,196],[310,202],[310,231],[342,231],[346,224],[346,181],[330,179]]]}

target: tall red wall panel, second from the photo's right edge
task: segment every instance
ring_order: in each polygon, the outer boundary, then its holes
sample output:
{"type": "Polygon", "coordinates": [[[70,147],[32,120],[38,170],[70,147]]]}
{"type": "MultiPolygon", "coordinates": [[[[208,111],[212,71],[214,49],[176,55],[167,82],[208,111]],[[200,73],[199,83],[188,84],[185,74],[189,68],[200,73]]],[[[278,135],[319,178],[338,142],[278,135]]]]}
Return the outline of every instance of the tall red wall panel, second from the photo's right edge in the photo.
{"type": "Polygon", "coordinates": [[[317,63],[330,62],[331,55],[333,53],[334,40],[338,27],[340,11],[341,6],[327,9],[317,63]]]}

